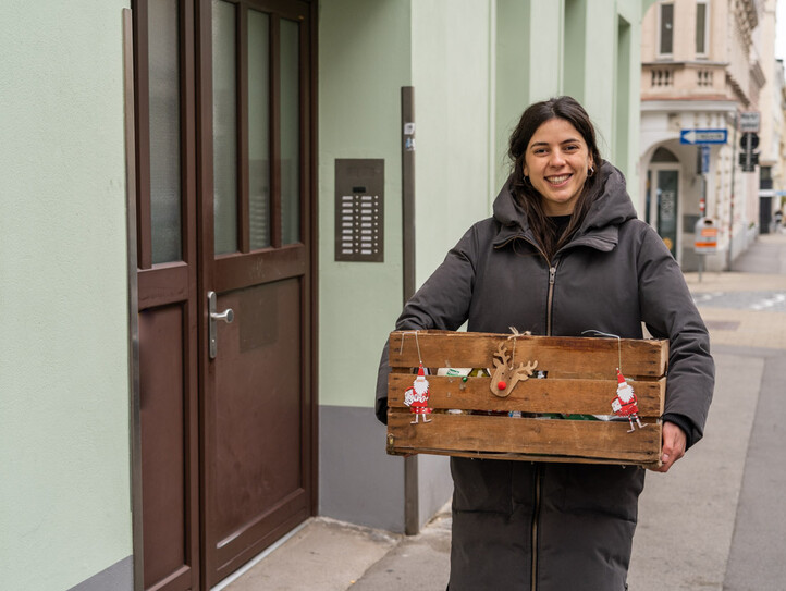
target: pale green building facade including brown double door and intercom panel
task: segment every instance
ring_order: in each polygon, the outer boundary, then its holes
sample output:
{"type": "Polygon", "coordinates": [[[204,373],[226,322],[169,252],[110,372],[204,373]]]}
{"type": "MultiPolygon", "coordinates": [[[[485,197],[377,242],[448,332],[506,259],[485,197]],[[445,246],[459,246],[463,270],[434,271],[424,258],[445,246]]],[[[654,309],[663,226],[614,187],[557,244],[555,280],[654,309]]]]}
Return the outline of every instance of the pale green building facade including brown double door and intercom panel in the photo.
{"type": "Polygon", "coordinates": [[[386,335],[532,101],[581,101],[641,208],[650,3],[3,2],[0,588],[210,589],[314,515],[417,531],[450,475],[385,455],[386,335]]]}

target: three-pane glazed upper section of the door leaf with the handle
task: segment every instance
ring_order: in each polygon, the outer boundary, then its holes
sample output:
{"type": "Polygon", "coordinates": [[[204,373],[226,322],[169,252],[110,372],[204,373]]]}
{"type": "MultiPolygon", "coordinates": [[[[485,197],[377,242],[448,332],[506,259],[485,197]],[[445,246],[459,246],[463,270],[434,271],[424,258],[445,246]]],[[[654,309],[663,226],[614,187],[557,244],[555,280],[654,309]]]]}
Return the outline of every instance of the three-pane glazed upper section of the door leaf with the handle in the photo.
{"type": "Polygon", "coordinates": [[[216,255],[303,242],[300,22],[212,0],[216,255]]]}

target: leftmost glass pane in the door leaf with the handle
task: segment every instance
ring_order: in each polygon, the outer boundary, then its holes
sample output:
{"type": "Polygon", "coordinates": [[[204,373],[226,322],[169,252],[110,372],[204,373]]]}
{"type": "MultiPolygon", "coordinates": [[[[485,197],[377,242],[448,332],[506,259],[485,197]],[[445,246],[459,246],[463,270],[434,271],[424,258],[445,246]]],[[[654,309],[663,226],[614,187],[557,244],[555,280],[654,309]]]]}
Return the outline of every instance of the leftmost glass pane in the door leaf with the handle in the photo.
{"type": "Polygon", "coordinates": [[[213,0],[213,216],[217,255],[237,250],[236,21],[234,4],[213,0]]]}

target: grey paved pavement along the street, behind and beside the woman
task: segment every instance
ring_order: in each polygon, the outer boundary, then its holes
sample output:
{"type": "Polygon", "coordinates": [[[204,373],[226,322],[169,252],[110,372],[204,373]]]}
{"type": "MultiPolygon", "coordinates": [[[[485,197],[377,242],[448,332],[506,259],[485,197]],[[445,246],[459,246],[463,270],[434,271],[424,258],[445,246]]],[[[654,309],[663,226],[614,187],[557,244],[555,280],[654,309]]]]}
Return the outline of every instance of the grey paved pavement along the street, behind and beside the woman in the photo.
{"type": "MultiPolygon", "coordinates": [[[[649,472],[631,591],[786,589],[786,235],[765,235],[727,273],[686,279],[711,333],[717,380],[704,439],[649,472]]],[[[449,507],[402,537],[315,518],[228,591],[442,591],[449,507]]]]}

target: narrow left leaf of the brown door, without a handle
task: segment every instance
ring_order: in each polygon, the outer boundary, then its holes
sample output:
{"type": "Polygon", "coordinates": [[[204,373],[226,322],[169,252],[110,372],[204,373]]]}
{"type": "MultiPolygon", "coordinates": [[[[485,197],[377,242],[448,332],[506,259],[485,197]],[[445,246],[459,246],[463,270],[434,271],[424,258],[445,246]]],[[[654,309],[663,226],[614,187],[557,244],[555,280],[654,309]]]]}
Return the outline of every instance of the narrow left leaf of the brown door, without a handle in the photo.
{"type": "MultiPolygon", "coordinates": [[[[146,590],[199,589],[195,13],[133,7],[143,566],[146,590]]],[[[138,544],[135,544],[138,545],[138,544]]]]}

